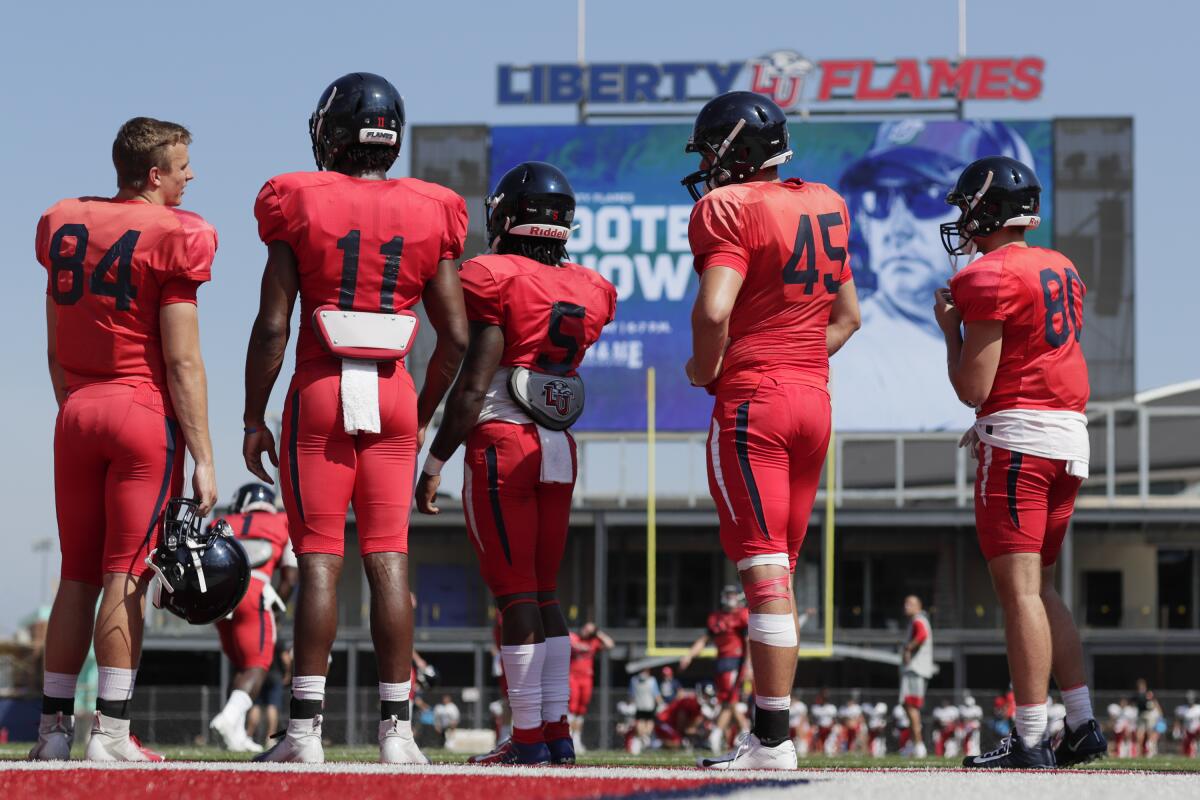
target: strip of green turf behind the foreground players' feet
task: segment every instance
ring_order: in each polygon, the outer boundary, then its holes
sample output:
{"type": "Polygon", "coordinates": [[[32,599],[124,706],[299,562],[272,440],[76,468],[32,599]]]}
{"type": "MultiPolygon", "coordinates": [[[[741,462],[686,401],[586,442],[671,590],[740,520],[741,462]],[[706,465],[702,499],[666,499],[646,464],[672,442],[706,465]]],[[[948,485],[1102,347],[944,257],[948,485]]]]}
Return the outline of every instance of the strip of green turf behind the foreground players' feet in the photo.
{"type": "MultiPolygon", "coordinates": [[[[151,748],[163,753],[170,760],[188,762],[245,762],[248,754],[227,753],[218,747],[173,746],[163,745],[151,748]]],[[[77,748],[78,750],[78,748],[77,748]]],[[[0,745],[0,760],[22,759],[29,752],[28,744],[0,745]]],[[[434,763],[454,764],[467,759],[460,753],[448,753],[440,750],[425,751],[434,763]]],[[[77,753],[79,756],[82,753],[77,753]]],[[[326,746],[325,758],[330,762],[373,762],[379,757],[373,746],[346,747],[326,746]]],[[[695,756],[671,752],[643,753],[630,756],[623,750],[589,751],[580,757],[580,764],[588,766],[692,766],[695,756]]],[[[844,756],[839,758],[811,757],[800,759],[800,769],[948,769],[959,765],[959,759],[926,758],[914,760],[900,756],[884,758],[865,758],[862,756],[844,756]]],[[[1152,759],[1104,759],[1079,769],[1086,770],[1134,770],[1147,772],[1187,772],[1200,771],[1200,759],[1180,756],[1159,756],[1152,759]]]]}

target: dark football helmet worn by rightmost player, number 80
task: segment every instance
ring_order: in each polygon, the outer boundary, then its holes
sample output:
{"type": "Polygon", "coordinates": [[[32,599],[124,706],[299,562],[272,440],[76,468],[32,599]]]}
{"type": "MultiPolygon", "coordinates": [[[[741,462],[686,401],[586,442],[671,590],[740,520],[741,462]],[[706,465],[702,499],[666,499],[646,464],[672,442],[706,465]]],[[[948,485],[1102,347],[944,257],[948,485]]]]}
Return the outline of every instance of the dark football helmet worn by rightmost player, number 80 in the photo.
{"type": "Polygon", "coordinates": [[[1033,169],[1008,156],[989,156],[967,164],[946,201],[958,206],[958,221],[942,224],[942,246],[950,255],[970,255],[974,239],[1001,228],[1037,228],[1042,184],[1033,169]]]}

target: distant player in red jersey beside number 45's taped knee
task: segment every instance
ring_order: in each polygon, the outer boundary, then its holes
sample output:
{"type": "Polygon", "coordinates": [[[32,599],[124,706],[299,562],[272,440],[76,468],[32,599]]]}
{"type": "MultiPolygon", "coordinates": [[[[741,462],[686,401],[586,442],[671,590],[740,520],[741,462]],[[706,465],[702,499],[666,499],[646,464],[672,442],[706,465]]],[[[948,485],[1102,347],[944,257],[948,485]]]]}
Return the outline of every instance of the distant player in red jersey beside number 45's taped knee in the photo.
{"type": "MultiPolygon", "coordinates": [[[[724,752],[730,742],[731,723],[737,721],[739,732],[750,729],[750,721],[738,710],[742,694],[742,673],[746,661],[746,633],[750,630],[750,609],[737,587],[721,589],[721,608],[708,615],[704,632],[688,654],[679,660],[686,669],[709,643],[716,646],[716,704],[720,710],[709,740],[713,752],[724,752]]],[[[791,705],[788,705],[791,708],[791,705]]]]}

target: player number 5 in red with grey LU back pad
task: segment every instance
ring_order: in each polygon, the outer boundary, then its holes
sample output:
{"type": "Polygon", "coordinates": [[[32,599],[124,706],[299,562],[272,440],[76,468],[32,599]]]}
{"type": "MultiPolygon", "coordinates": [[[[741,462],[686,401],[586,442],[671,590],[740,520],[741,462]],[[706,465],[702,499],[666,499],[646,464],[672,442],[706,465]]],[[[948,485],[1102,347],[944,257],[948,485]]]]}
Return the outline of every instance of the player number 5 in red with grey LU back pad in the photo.
{"type": "Polygon", "coordinates": [[[467,443],[463,509],[503,620],[512,739],[488,763],[575,762],[568,711],[571,644],[558,565],[575,489],[583,411],[576,372],[617,311],[617,290],[566,259],[575,192],[557,168],[510,169],[487,200],[491,253],[462,265],[470,344],[416,486],[437,513],[440,470],[467,443]]]}

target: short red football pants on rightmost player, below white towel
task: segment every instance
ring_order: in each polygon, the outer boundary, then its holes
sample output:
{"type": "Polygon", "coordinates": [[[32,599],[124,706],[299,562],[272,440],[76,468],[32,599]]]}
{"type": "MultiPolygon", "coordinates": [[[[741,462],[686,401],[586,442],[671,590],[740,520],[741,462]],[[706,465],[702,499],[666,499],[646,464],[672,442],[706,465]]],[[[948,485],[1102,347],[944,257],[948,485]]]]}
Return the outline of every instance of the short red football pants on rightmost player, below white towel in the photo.
{"type": "Polygon", "coordinates": [[[976,468],[976,531],[986,560],[1009,553],[1040,553],[1058,560],[1082,481],[1067,462],[979,443],[976,468]]]}

